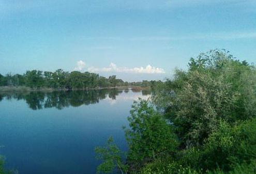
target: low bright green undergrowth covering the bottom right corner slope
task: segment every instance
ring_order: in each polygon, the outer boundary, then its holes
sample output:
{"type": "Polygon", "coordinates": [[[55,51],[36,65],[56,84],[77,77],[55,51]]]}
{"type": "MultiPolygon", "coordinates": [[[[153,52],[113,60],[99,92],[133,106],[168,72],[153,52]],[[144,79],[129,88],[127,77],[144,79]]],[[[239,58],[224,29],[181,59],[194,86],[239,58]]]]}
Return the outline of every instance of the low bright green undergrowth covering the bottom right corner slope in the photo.
{"type": "Polygon", "coordinates": [[[255,173],[256,118],[235,126],[221,121],[200,148],[157,159],[139,173],[255,173]],[[244,172],[243,172],[244,171],[244,172]]]}

